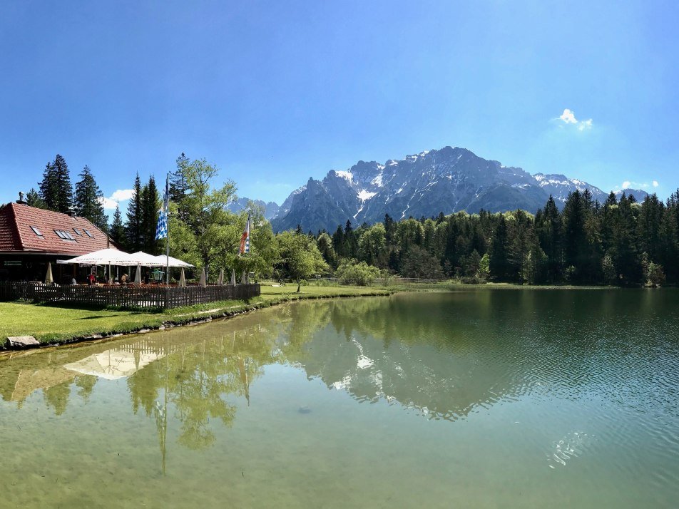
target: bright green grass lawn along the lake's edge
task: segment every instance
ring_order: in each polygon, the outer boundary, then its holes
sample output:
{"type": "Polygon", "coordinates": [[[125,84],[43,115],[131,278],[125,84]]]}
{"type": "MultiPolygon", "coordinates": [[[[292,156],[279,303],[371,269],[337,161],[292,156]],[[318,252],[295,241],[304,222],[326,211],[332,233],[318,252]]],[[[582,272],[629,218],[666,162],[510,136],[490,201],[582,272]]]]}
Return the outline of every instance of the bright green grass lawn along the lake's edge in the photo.
{"type": "Polygon", "coordinates": [[[7,336],[35,336],[42,343],[58,343],[94,334],[116,334],[143,328],[160,327],[165,322],[184,323],[199,318],[218,317],[279,302],[324,297],[354,297],[388,294],[370,287],[304,286],[295,293],[296,284],[285,287],[262,285],[262,296],[244,301],[221,301],[164,312],[113,311],[108,309],[72,309],[40,304],[0,302],[0,346],[7,336]]]}

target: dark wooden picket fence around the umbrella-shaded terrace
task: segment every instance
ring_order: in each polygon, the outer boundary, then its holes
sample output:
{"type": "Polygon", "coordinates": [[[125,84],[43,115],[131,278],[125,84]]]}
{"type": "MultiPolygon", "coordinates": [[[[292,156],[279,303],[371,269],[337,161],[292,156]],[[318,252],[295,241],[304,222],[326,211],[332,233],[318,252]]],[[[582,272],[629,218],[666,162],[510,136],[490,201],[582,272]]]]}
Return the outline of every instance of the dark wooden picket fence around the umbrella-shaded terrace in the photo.
{"type": "Polygon", "coordinates": [[[244,300],[260,294],[259,284],[216,284],[202,287],[56,286],[34,282],[0,282],[0,301],[21,300],[94,307],[172,308],[218,300],[244,300]]]}

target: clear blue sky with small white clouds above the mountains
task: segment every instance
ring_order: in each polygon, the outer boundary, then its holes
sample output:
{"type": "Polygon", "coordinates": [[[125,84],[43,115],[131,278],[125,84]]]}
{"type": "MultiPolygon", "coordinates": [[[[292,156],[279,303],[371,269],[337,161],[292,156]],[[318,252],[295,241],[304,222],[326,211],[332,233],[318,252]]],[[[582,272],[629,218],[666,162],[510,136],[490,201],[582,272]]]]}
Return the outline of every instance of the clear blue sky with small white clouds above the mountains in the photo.
{"type": "Polygon", "coordinates": [[[280,203],[445,145],[666,197],[677,19],[670,1],[2,2],[0,202],[56,153],[107,197],[184,152],[280,203]]]}

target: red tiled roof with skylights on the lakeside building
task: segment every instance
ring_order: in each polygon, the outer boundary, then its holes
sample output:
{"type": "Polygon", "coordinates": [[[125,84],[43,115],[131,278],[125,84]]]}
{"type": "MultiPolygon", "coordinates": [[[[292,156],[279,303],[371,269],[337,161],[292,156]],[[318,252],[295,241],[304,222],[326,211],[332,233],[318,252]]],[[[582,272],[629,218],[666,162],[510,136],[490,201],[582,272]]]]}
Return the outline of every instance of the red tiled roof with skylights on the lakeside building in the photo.
{"type": "Polygon", "coordinates": [[[0,252],[57,253],[59,255],[86,255],[89,252],[116,249],[108,235],[84,217],[29,207],[21,203],[9,203],[0,209],[0,252]],[[42,237],[31,230],[36,227],[42,237]],[[77,228],[78,235],[73,228],[77,228]],[[54,230],[71,234],[73,240],[63,240],[54,230]],[[85,230],[92,234],[89,237],[85,230]]]}

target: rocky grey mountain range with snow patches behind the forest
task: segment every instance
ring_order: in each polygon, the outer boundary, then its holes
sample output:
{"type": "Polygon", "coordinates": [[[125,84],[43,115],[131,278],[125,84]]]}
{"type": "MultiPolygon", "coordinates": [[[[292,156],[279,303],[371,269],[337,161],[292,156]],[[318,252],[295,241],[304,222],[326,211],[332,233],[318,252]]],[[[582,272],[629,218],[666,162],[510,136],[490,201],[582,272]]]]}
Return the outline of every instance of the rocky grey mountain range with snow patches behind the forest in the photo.
{"type": "MultiPolygon", "coordinates": [[[[465,148],[424,150],[384,164],[359,161],[345,171],[330,170],[322,180],[310,178],[278,207],[262,204],[274,231],[296,228],[334,232],[347,220],[373,224],[389,214],[395,220],[432,217],[466,210],[536,212],[549,195],[563,207],[569,192],[589,190],[594,200],[608,197],[598,187],[561,174],[530,173],[480,158],[465,148]]],[[[618,195],[623,191],[619,191],[618,195]]],[[[643,200],[643,190],[624,190],[643,200]]],[[[242,198],[240,201],[247,199],[242,198]]]]}

